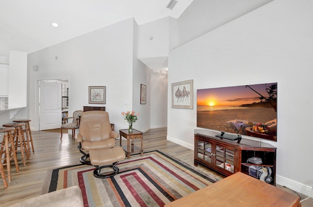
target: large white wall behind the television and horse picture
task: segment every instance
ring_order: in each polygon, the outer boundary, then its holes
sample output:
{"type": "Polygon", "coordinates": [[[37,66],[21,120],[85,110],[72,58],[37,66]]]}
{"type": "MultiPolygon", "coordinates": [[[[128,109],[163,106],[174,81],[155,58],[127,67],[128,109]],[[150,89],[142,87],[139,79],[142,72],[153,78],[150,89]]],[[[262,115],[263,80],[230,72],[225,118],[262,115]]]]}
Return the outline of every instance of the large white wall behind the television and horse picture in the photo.
{"type": "Polygon", "coordinates": [[[274,0],[171,51],[168,139],[193,148],[197,125],[195,105],[171,108],[171,83],[193,79],[196,103],[197,89],[278,82],[278,141],[269,142],[277,147],[276,183],[310,195],[312,8],[311,0],[274,0]]]}

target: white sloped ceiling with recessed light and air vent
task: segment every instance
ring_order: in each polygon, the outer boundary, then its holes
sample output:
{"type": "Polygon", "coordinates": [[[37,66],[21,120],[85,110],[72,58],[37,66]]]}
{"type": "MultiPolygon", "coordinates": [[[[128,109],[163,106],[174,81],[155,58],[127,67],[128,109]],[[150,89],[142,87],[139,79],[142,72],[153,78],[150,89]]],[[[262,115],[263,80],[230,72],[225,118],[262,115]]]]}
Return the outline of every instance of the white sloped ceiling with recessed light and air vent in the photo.
{"type": "Polygon", "coordinates": [[[38,51],[129,18],[139,25],[179,18],[193,0],[177,1],[170,10],[170,0],[0,0],[0,56],[38,51]]]}

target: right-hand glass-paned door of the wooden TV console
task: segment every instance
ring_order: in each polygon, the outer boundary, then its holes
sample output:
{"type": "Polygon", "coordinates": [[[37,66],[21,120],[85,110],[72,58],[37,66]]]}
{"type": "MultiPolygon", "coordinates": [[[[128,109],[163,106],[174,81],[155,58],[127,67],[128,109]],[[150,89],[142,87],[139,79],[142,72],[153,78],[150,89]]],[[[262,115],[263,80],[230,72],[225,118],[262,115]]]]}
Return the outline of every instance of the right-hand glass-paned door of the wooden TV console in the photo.
{"type": "Polygon", "coordinates": [[[234,173],[234,155],[235,150],[223,145],[216,145],[215,165],[234,173]]]}

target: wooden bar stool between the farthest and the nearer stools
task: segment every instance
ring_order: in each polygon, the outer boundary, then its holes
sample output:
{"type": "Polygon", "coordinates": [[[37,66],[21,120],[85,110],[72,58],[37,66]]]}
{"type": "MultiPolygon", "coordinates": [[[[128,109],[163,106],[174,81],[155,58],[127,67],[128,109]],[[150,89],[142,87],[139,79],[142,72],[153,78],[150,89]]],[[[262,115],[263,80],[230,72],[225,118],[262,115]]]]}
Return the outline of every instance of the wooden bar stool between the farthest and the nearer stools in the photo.
{"type": "Polygon", "coordinates": [[[3,124],[4,127],[13,127],[14,128],[14,134],[13,137],[15,138],[15,150],[17,150],[18,147],[20,147],[20,151],[22,154],[22,161],[23,166],[26,166],[25,162],[25,155],[26,159],[28,160],[28,151],[27,151],[27,145],[24,139],[24,133],[22,132],[22,126],[25,125],[24,123],[11,123],[11,124],[3,124]]]}

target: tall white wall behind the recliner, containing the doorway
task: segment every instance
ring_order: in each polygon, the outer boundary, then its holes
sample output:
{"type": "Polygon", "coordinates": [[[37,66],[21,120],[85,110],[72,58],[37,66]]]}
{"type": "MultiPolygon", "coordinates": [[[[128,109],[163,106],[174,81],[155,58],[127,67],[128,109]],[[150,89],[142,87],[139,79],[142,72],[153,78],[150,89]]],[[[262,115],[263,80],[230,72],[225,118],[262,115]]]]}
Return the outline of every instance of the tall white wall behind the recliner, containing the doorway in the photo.
{"type": "Polygon", "coordinates": [[[115,130],[127,128],[121,112],[133,107],[133,33],[129,19],[29,54],[31,127],[39,129],[39,80],[68,79],[69,114],[84,105],[106,106],[115,130]],[[33,65],[38,71],[31,70],[33,65]],[[88,86],[101,85],[106,104],[88,104],[88,86]]]}

